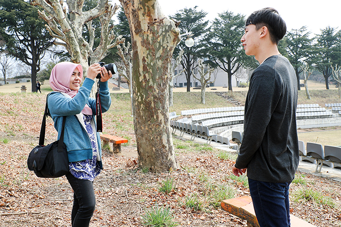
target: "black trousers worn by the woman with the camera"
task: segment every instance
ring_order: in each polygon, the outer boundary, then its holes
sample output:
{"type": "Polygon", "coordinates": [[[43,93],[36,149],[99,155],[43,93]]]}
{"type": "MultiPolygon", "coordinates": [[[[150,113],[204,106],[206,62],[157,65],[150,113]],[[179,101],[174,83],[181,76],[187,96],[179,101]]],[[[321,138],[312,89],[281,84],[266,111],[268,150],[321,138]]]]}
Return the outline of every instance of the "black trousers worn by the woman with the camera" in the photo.
{"type": "Polygon", "coordinates": [[[71,213],[72,227],[88,227],[96,206],[93,182],[77,179],[71,173],[66,174],[66,178],[74,190],[74,204],[71,213]]]}

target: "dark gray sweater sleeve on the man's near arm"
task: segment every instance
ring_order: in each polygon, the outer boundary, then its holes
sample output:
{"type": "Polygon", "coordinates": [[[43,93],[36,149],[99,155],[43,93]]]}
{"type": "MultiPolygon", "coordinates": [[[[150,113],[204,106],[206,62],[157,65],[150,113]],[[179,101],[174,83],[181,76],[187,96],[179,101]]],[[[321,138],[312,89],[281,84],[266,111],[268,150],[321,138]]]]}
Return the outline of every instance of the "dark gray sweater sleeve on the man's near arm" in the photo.
{"type": "Polygon", "coordinates": [[[238,169],[247,168],[260,147],[280,98],[281,87],[276,82],[273,72],[271,69],[258,70],[251,78],[245,103],[244,135],[235,164],[238,169]]]}

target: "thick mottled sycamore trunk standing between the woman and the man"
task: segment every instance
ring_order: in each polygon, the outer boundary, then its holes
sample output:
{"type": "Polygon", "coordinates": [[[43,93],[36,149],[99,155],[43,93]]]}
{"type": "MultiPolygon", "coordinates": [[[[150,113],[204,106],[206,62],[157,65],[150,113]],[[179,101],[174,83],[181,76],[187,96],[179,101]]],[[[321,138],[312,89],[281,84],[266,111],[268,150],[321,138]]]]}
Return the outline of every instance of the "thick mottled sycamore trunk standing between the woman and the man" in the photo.
{"type": "Polygon", "coordinates": [[[120,0],[132,47],[134,130],[140,168],[177,169],[169,121],[168,82],[179,29],[157,0],[120,0]]]}

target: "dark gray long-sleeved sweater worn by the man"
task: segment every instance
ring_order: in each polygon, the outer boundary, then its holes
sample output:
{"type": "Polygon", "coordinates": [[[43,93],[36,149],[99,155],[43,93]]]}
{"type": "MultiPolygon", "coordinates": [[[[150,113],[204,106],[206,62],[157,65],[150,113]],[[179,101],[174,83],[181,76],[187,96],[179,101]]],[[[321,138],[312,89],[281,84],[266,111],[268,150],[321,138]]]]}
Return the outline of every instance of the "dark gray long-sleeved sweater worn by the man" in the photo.
{"type": "Polygon", "coordinates": [[[252,74],[235,164],[247,168],[247,177],[271,183],[293,179],[299,164],[297,90],[295,71],[282,55],[267,58],[252,74]]]}

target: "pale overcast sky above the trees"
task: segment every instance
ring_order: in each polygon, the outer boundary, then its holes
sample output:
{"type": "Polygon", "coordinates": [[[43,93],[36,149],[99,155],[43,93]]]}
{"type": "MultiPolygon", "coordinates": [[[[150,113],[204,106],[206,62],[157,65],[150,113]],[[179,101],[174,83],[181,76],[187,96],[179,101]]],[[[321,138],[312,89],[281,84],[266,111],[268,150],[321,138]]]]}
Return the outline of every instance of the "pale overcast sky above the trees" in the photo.
{"type": "MultiPolygon", "coordinates": [[[[120,5],[118,0],[113,3],[120,5]]],[[[273,7],[283,17],[287,24],[287,30],[300,29],[307,26],[312,34],[320,34],[320,29],[327,26],[341,29],[341,1],[307,1],[307,0],[159,0],[162,11],[165,15],[174,15],[178,10],[193,8],[198,6],[198,10],[208,13],[207,19],[213,20],[218,13],[232,11],[235,14],[242,14],[246,17],[252,12],[265,8],[273,7]]]]}

